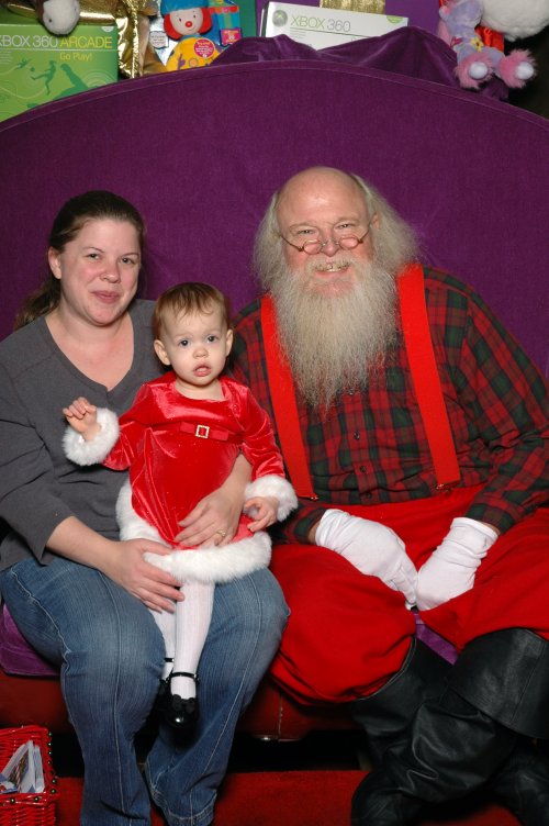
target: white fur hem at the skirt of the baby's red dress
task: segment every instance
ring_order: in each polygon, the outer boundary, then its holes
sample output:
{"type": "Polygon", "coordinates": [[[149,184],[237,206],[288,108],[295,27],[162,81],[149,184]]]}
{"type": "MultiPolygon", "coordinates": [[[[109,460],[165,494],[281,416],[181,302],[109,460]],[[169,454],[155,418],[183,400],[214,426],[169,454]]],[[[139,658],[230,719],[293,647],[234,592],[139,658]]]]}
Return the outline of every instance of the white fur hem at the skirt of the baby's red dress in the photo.
{"type": "MultiPolygon", "coordinates": [[[[126,481],[119,493],[116,518],[121,539],[153,539],[166,546],[158,531],[138,516],[132,505],[132,488],[126,481]]],[[[167,546],[169,547],[169,546],[167,546]]],[[[179,582],[231,582],[247,573],[267,568],[271,558],[271,540],[259,531],[249,538],[239,539],[222,548],[205,547],[192,550],[172,550],[168,556],[145,554],[147,562],[171,573],[179,582]]]]}

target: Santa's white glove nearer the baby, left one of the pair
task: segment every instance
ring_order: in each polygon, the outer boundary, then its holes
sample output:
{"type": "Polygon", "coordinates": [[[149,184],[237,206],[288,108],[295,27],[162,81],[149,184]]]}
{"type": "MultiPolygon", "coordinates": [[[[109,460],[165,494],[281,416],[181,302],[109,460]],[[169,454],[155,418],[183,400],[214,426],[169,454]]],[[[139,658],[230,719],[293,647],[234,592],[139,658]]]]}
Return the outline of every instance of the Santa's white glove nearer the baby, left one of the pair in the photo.
{"type": "Polygon", "coordinates": [[[404,543],[390,527],[329,510],[316,528],[316,544],[340,554],[361,573],[378,577],[415,604],[417,571],[404,543]]]}

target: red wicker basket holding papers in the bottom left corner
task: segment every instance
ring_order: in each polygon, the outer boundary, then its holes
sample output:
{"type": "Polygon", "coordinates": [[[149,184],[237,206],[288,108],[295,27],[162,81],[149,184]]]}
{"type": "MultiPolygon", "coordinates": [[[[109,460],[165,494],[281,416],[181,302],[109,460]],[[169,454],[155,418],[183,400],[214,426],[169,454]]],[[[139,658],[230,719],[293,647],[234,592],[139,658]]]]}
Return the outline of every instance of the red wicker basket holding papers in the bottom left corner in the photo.
{"type": "Polygon", "coordinates": [[[0,767],[27,740],[40,747],[44,791],[40,794],[0,794],[0,826],[54,826],[59,792],[52,763],[51,735],[46,728],[21,726],[0,728],[0,767]]]}

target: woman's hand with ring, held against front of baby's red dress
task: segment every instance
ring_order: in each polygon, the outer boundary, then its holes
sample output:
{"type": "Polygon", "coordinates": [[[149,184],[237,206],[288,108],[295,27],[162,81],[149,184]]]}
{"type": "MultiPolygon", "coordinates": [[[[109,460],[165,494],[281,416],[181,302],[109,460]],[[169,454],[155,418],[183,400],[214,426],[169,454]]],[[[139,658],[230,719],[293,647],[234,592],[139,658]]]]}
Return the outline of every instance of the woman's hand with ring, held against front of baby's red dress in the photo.
{"type": "Polygon", "coordinates": [[[250,478],[250,466],[238,456],[228,479],[204,496],[179,523],[183,528],[176,540],[189,547],[228,545],[238,527],[244,491],[250,478]]]}

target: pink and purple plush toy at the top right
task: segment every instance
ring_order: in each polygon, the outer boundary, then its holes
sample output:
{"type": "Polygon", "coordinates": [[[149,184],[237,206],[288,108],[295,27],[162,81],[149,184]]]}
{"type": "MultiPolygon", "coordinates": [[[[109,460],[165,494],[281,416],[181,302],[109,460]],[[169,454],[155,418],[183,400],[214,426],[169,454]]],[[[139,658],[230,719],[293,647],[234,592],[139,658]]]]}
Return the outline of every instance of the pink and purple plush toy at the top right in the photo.
{"type": "Polygon", "coordinates": [[[518,88],[534,77],[534,60],[526,49],[505,55],[484,45],[475,31],[483,18],[481,0],[445,0],[439,14],[438,34],[456,52],[456,75],[463,88],[478,89],[493,75],[509,88],[518,88]]]}

